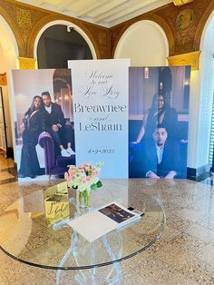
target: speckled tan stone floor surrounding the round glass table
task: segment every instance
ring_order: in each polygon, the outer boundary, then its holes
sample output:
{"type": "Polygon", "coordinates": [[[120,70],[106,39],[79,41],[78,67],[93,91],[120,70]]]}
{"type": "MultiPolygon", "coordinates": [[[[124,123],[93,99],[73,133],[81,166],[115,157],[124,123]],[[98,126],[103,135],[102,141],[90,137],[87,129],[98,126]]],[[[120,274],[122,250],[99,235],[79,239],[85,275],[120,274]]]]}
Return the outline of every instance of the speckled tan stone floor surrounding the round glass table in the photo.
{"type": "MultiPolygon", "coordinates": [[[[14,201],[17,183],[14,162],[0,154],[0,211],[14,201]]],[[[122,284],[214,284],[214,187],[209,179],[145,179],[136,187],[143,187],[160,202],[167,226],[160,241],[120,262],[122,284]]],[[[106,268],[97,270],[101,276],[97,284],[104,284],[106,268]]],[[[55,270],[28,266],[0,251],[0,284],[51,285],[55,274],[55,270]]],[[[75,270],[63,271],[60,284],[75,284],[75,274],[75,270]]]]}

